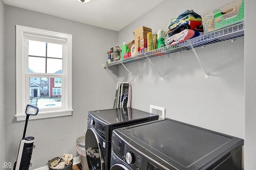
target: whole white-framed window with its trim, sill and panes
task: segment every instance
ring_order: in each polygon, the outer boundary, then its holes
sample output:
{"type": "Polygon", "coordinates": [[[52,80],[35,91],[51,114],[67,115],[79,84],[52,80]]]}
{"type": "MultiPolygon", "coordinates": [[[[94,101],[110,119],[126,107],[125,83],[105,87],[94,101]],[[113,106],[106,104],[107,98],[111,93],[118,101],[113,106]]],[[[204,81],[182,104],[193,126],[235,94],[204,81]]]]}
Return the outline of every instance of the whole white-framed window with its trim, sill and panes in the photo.
{"type": "Polygon", "coordinates": [[[16,118],[72,114],[72,35],[16,25],[16,118]]]}

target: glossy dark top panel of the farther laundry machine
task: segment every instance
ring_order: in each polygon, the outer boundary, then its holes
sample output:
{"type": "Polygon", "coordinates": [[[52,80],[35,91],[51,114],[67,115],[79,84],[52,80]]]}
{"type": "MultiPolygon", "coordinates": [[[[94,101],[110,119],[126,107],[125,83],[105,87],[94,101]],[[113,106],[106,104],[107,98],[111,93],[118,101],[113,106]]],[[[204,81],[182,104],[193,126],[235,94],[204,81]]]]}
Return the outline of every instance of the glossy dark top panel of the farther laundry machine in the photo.
{"type": "Polygon", "coordinates": [[[148,113],[138,109],[133,109],[130,107],[116,108],[116,109],[106,109],[106,110],[96,110],[89,111],[89,114],[94,116],[100,122],[105,125],[114,125],[118,123],[125,123],[133,120],[140,120],[152,117],[152,119],[158,119],[158,115],[153,113],[148,113]]]}

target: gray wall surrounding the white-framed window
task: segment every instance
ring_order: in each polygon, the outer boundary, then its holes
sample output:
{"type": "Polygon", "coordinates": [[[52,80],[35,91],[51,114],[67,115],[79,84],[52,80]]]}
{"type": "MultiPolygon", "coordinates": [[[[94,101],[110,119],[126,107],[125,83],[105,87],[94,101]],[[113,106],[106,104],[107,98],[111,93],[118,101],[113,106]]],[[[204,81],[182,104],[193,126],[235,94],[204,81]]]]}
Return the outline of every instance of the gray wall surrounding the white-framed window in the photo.
{"type": "MultiPolygon", "coordinates": [[[[2,13],[2,10],[0,11],[2,13]]],[[[6,151],[4,154],[1,150],[0,157],[5,157],[6,162],[15,162],[25,123],[16,121],[14,117],[16,111],[15,25],[72,34],[72,104],[74,111],[71,116],[30,120],[26,136],[35,137],[36,147],[33,149],[31,169],[46,166],[48,160],[62,156],[64,153],[77,157],[76,139],[84,135],[88,111],[108,109],[113,106],[118,69],[105,70],[102,64],[106,63],[106,51],[117,44],[118,32],[7,5],[4,6],[4,11],[5,57],[2,59],[3,55],[1,55],[0,59],[5,60],[6,66],[5,79],[2,81],[5,87],[6,133],[2,137],[1,132],[1,139],[5,140],[6,151]]],[[[2,30],[1,27],[0,30],[2,30]]],[[[2,35],[2,31],[0,33],[2,35]]],[[[0,80],[3,79],[2,76],[0,78],[0,80]]],[[[1,104],[2,100],[0,98],[1,104]]]]}

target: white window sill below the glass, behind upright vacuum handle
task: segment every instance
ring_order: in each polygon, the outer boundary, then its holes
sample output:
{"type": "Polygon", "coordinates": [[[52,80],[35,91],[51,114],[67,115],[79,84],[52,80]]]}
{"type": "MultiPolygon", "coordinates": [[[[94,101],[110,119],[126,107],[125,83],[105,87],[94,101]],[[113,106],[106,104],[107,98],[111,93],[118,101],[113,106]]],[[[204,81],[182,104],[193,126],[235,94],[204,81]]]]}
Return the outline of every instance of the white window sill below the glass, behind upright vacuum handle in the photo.
{"type": "MultiPolygon", "coordinates": [[[[59,110],[59,111],[52,111],[52,112],[38,112],[38,115],[30,116],[30,119],[44,119],[49,117],[60,117],[60,116],[67,116],[72,115],[73,109],[70,110],[59,110]]],[[[26,114],[22,115],[15,115],[17,121],[26,120],[26,114]]]]}

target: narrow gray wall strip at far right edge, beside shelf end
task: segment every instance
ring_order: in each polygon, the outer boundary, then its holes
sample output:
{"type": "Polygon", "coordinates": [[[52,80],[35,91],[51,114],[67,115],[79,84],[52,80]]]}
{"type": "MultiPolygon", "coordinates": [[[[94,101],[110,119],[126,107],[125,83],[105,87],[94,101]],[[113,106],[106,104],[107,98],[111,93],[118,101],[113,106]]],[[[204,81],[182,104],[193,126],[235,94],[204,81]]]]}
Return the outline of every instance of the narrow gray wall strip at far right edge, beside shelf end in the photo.
{"type": "Polygon", "coordinates": [[[245,1],[245,37],[244,37],[244,64],[245,64],[245,145],[244,169],[254,170],[256,160],[256,1],[245,1]]]}

